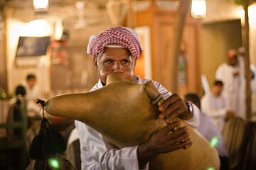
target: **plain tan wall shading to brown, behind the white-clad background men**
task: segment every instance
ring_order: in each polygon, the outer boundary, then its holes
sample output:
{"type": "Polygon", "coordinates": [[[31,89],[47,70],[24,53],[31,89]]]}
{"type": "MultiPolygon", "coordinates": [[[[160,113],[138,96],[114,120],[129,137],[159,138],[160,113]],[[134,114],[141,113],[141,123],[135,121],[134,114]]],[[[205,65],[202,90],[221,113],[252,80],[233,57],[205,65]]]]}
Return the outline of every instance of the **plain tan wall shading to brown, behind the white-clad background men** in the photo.
{"type": "Polygon", "coordinates": [[[240,20],[203,24],[201,67],[202,74],[206,74],[210,87],[215,79],[216,69],[226,61],[226,52],[230,49],[238,49],[241,45],[240,20]]]}

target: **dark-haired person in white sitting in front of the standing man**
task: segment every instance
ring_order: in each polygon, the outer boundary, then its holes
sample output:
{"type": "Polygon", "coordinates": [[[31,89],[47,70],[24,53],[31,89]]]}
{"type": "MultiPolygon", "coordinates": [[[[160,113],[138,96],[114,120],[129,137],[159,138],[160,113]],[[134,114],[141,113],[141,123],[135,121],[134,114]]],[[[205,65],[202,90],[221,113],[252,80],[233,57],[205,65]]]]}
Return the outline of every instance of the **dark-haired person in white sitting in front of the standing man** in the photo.
{"type": "Polygon", "coordinates": [[[213,119],[216,127],[222,132],[225,120],[232,118],[235,113],[229,111],[227,103],[222,95],[223,82],[215,80],[213,82],[213,89],[210,93],[205,94],[201,99],[201,109],[203,113],[213,119]]]}

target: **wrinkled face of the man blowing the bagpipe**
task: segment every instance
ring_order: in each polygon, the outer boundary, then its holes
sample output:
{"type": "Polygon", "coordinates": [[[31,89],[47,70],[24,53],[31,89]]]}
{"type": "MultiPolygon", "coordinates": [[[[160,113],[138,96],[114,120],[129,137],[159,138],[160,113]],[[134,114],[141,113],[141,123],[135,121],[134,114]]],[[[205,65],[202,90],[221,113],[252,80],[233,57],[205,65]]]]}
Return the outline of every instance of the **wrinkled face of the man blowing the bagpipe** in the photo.
{"type": "Polygon", "coordinates": [[[129,50],[122,47],[105,47],[100,60],[97,62],[97,58],[94,59],[95,68],[103,84],[106,84],[107,75],[112,72],[117,72],[127,81],[131,81],[134,62],[129,50]]]}

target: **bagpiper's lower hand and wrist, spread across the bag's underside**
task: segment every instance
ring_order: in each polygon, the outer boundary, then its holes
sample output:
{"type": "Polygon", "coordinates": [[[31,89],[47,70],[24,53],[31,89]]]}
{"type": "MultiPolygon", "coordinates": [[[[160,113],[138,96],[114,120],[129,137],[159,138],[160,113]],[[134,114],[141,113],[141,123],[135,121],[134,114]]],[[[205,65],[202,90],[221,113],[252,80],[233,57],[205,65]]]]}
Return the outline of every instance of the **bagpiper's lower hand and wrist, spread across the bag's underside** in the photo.
{"type": "Polygon", "coordinates": [[[140,168],[145,166],[146,162],[149,162],[156,154],[164,154],[191,146],[191,142],[186,140],[188,137],[186,130],[188,128],[178,128],[179,125],[178,121],[174,121],[161,130],[152,133],[149,140],[139,145],[137,155],[140,168]],[[174,128],[178,128],[178,130],[174,131],[174,128]]]}

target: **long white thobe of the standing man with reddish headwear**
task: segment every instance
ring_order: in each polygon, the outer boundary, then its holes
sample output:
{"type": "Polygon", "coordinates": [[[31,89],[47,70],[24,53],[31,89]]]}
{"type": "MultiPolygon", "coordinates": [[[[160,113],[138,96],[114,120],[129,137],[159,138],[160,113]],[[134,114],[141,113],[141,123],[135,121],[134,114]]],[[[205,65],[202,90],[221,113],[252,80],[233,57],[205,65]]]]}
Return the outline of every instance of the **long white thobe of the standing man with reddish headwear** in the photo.
{"type": "Polygon", "coordinates": [[[216,79],[223,81],[223,96],[228,110],[245,119],[245,68],[241,57],[238,57],[238,63],[235,67],[221,64],[216,71],[216,79]],[[234,72],[239,72],[239,75],[234,77],[234,72]]]}

